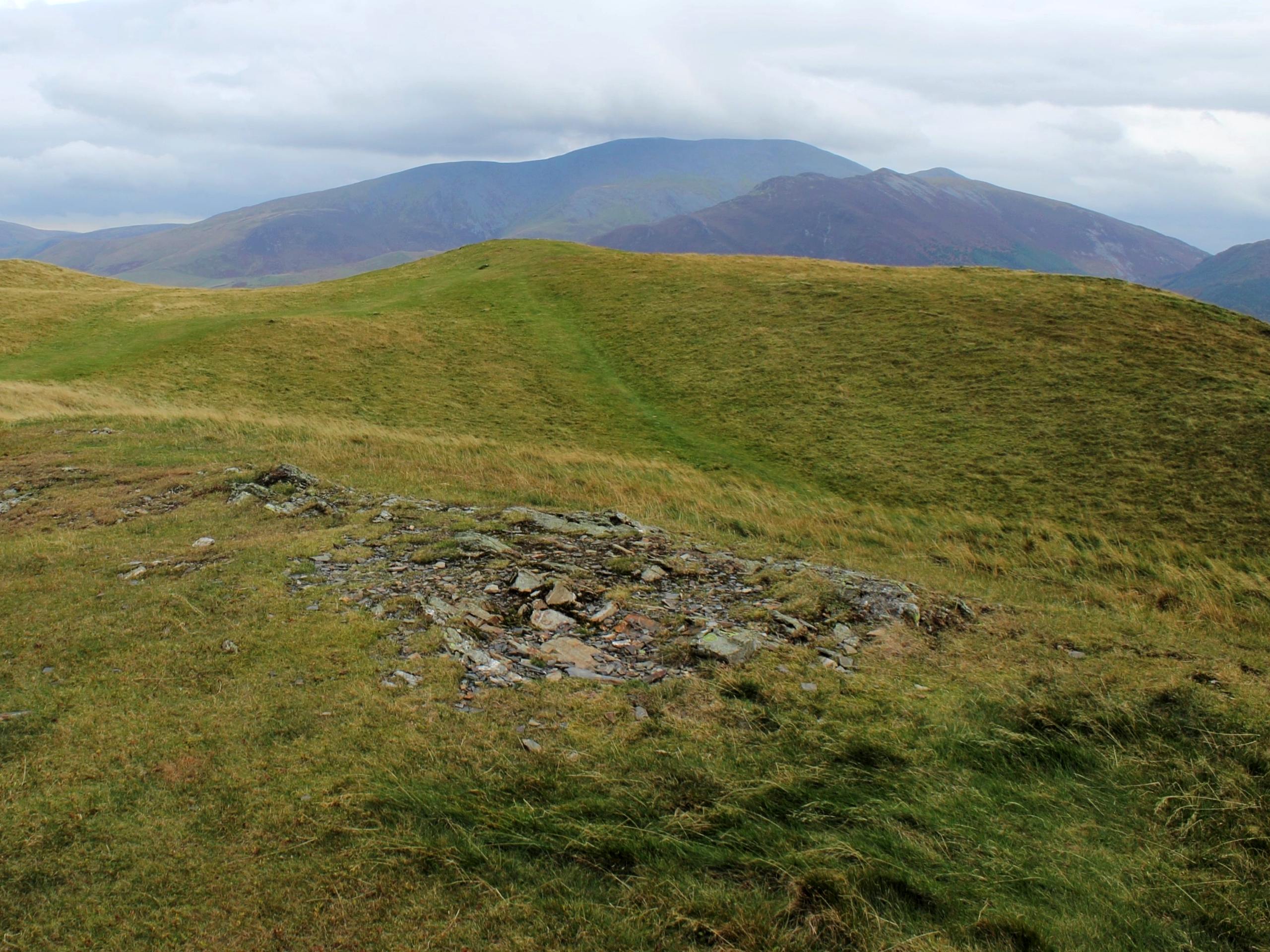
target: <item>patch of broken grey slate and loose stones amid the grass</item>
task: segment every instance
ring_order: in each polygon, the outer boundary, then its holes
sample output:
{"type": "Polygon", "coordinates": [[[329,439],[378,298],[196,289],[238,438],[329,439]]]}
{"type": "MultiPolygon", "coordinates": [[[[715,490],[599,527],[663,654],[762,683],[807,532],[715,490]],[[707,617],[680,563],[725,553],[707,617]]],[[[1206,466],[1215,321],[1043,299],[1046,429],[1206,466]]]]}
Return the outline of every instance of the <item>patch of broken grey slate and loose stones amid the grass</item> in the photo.
{"type": "Polygon", "coordinates": [[[373,512],[387,527],[378,538],[347,536],[295,560],[291,585],[394,625],[400,656],[386,688],[418,684],[410,666],[425,655],[461,661],[460,710],[526,680],[653,684],[781,644],[814,646],[827,673],[850,678],[890,626],[931,636],[977,614],[839,566],[743,559],[617,512],[375,499],[292,466],[235,484],[229,501],[291,518],[373,512]]]}

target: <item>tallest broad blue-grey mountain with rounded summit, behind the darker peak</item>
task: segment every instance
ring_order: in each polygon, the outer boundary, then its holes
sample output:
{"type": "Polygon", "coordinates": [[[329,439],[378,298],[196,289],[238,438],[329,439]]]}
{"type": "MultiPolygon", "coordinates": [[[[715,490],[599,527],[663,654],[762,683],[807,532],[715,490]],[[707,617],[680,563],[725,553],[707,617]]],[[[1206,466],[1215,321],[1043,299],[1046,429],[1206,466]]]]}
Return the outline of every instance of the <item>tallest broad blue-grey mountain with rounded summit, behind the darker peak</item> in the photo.
{"type": "Polygon", "coordinates": [[[371,270],[494,237],[584,241],[743,194],[773,175],[867,171],[780,140],[640,138],[531,162],[442,162],[343,188],[281,198],[161,235],[55,245],[41,260],[177,286],[304,281],[371,270]],[[399,259],[400,260],[400,259],[399,259]],[[262,279],[271,281],[262,281],[262,279]],[[311,278],[309,278],[311,279],[311,278]]]}

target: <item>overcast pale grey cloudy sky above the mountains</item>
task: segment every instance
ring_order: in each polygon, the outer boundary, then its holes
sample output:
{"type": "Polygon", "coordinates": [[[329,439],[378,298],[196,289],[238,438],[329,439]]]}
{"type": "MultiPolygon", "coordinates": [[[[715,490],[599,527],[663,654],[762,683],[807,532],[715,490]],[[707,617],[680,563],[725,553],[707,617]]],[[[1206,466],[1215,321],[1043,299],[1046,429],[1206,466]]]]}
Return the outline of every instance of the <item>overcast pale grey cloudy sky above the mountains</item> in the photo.
{"type": "Polygon", "coordinates": [[[0,0],[0,218],[193,221],[627,136],[1270,237],[1267,0],[0,0]]]}

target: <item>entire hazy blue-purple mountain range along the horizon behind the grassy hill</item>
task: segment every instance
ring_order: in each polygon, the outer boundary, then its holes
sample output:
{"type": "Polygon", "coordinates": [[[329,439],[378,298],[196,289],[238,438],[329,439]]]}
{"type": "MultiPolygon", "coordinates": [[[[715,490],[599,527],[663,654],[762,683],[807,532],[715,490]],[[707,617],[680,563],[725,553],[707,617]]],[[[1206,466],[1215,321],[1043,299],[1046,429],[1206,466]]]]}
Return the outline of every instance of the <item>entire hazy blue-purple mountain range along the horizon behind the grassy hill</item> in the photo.
{"type": "Polygon", "coordinates": [[[785,140],[618,140],[530,162],[441,162],[193,225],[0,222],[0,258],[189,287],[297,284],[498,237],[632,251],[994,265],[1123,278],[1270,320],[1270,241],[1209,256],[949,169],[902,175],[785,140]]]}

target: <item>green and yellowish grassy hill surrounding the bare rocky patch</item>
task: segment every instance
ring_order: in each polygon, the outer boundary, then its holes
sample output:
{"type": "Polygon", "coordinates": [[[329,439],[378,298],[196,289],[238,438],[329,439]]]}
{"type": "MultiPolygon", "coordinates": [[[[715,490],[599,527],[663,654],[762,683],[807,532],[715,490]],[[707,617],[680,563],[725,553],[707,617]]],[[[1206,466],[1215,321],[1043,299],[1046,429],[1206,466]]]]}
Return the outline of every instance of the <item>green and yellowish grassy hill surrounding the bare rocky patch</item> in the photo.
{"type": "Polygon", "coordinates": [[[0,263],[0,420],[19,946],[1270,941],[1257,321],[1095,278],[544,241],[254,291],[0,263]],[[373,513],[225,505],[226,467],[283,459],[997,608],[850,680],[787,647],[458,713],[452,663],[384,689],[390,623],[288,586],[373,513]],[[201,536],[197,571],[118,578],[201,536]],[[568,726],[531,754],[530,722],[568,726]]]}

